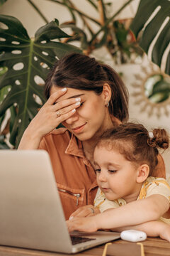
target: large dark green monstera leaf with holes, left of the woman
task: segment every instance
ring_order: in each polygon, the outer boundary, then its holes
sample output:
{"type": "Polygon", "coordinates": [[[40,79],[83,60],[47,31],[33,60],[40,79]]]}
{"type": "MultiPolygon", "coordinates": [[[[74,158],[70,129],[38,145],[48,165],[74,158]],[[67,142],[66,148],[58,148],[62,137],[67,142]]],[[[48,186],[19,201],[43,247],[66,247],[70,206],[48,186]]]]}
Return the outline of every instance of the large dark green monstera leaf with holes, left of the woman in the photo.
{"type": "Polygon", "coordinates": [[[0,78],[0,90],[10,87],[1,102],[0,117],[13,108],[10,142],[18,145],[29,122],[45,102],[44,80],[57,59],[69,52],[81,52],[79,48],[61,43],[68,38],[58,21],[47,23],[29,38],[26,28],[18,19],[0,15],[0,67],[8,70],[0,78]]]}

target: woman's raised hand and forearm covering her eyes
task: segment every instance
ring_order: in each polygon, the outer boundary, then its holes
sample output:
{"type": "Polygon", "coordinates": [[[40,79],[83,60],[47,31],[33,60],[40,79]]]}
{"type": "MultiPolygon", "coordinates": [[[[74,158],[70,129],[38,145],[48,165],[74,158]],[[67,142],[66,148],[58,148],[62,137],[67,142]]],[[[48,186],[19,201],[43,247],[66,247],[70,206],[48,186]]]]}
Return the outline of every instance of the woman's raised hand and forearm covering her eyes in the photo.
{"type": "Polygon", "coordinates": [[[73,98],[57,102],[65,92],[67,88],[57,90],[45,102],[28,125],[18,149],[38,149],[42,137],[52,132],[61,122],[72,117],[81,99],[73,98]]]}

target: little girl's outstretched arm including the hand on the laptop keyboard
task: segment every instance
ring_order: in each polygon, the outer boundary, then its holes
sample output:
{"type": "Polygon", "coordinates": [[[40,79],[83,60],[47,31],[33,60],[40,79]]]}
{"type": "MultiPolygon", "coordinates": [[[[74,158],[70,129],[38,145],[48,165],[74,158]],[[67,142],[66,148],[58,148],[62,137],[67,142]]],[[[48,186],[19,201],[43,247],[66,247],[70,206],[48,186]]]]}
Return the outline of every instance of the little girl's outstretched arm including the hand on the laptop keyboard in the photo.
{"type": "Polygon", "coordinates": [[[152,195],[92,217],[73,218],[67,225],[70,231],[94,232],[98,229],[115,229],[157,220],[167,210],[169,201],[164,196],[152,195]]]}

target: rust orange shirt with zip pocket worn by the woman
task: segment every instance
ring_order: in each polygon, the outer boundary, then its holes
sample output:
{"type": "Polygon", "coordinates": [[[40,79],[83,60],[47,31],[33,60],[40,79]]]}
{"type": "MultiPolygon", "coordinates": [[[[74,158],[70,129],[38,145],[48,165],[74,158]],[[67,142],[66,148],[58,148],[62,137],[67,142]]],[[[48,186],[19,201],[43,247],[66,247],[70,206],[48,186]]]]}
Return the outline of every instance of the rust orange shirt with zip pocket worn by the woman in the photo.
{"type": "MultiPolygon", "coordinates": [[[[45,149],[50,155],[65,218],[80,206],[93,205],[98,189],[96,174],[84,156],[81,141],[66,128],[60,128],[47,134],[39,149],[45,149]]],[[[162,156],[158,159],[154,176],[165,178],[162,156]]]]}

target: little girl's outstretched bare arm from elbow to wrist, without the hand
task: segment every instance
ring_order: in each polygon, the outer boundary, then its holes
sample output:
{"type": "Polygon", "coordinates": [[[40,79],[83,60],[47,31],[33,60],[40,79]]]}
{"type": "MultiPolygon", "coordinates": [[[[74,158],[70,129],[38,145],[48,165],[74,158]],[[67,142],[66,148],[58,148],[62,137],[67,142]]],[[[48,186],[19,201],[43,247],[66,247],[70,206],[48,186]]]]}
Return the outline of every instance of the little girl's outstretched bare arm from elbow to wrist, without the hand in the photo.
{"type": "Polygon", "coordinates": [[[161,195],[133,201],[119,208],[96,215],[97,228],[119,228],[158,220],[169,210],[169,201],[161,195]]]}

